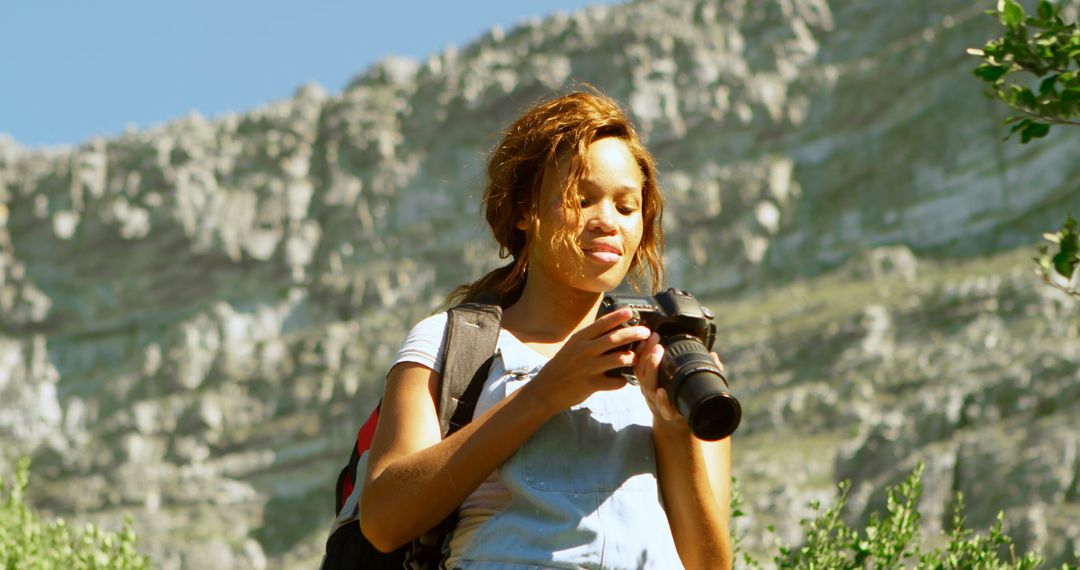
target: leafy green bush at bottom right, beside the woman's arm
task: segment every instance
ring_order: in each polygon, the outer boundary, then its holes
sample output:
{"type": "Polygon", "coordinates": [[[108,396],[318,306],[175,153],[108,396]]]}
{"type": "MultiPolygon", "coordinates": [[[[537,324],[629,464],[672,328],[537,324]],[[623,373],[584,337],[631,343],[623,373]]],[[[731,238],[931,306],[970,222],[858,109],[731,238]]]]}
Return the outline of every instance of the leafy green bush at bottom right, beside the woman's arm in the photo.
{"type": "MultiPolygon", "coordinates": [[[[836,501],[822,510],[812,501],[816,513],[812,519],[799,524],[806,535],[802,544],[793,546],[777,541],[772,562],[777,568],[807,570],[834,570],[855,568],[919,568],[927,570],[960,569],[1017,569],[1038,568],[1043,564],[1039,553],[1018,554],[1012,539],[1004,533],[1004,514],[998,513],[997,522],[986,534],[964,528],[963,496],[957,493],[953,514],[953,530],[943,548],[923,549],[919,530],[921,515],[918,511],[922,492],[922,464],[906,480],[887,490],[886,513],[874,513],[866,528],[859,531],[841,518],[848,501],[849,481],[839,484],[836,501]]],[[[731,513],[733,518],[745,516],[742,501],[734,487],[731,513]]],[[[773,529],[770,527],[769,529],[773,529]]],[[[735,538],[735,560],[745,568],[761,568],[761,564],[742,551],[741,537],[735,538]]],[[[1076,569],[1062,565],[1062,569],[1076,569]]]]}

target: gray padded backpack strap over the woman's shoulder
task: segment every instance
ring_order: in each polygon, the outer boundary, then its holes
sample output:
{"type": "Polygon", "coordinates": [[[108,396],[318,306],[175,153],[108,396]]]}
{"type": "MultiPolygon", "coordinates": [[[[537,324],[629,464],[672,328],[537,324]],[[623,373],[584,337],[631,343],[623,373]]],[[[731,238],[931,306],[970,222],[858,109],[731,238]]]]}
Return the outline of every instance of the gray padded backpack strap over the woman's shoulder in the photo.
{"type": "MultiPolygon", "coordinates": [[[[501,322],[502,308],[498,304],[462,303],[447,311],[443,385],[438,395],[438,424],[443,437],[450,431],[450,419],[454,418],[458,405],[462,403],[465,390],[476,382],[483,384],[487,378],[487,370],[499,341],[501,322]],[[484,372],[484,378],[476,379],[480,371],[484,372]]],[[[470,391],[471,399],[474,401],[475,396],[478,396],[480,388],[470,391]]],[[[476,405],[475,402],[465,404],[470,408],[476,405]]],[[[470,419],[472,419],[471,409],[464,423],[470,419]]]]}

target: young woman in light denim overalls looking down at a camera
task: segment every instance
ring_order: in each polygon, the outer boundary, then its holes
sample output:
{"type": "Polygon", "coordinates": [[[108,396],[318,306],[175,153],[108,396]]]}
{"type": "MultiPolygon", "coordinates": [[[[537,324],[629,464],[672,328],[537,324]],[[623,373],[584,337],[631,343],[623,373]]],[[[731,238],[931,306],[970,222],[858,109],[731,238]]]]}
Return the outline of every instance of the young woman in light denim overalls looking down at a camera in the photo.
{"type": "Polygon", "coordinates": [[[460,505],[451,569],[730,567],[730,440],[697,439],[658,388],[657,335],[619,326],[629,311],[595,318],[627,275],[663,279],[653,160],[629,120],[595,92],[532,107],[494,150],[484,203],[512,261],[450,299],[498,300],[498,357],[473,421],[441,439],[446,314],[406,338],[368,459],[367,538],[390,551],[460,505]],[[622,366],[639,386],[605,376],[622,366]]]}

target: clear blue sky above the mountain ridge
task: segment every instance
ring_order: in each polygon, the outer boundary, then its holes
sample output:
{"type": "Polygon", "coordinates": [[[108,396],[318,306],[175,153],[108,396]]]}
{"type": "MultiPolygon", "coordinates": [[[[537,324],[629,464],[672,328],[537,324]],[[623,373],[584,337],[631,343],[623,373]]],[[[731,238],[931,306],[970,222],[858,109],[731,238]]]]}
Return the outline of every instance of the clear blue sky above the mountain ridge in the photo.
{"type": "Polygon", "coordinates": [[[613,0],[13,0],[0,11],[0,133],[77,145],[191,111],[330,93],[380,57],[613,0]]]}

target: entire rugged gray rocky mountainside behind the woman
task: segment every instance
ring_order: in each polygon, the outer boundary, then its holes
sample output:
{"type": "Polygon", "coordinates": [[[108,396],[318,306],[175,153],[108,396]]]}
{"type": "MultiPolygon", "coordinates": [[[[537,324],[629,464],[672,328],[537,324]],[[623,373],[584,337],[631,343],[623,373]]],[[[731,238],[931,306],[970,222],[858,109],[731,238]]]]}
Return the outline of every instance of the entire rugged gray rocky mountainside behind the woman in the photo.
{"type": "Polygon", "coordinates": [[[341,94],[75,149],[0,138],[0,467],[31,454],[55,514],[132,513],[165,568],[313,566],[402,336],[498,263],[486,151],[586,81],[658,158],[669,281],[724,309],[746,544],[797,538],[840,478],[866,516],[921,459],[930,530],[962,490],[972,526],[1005,508],[1059,558],[1080,318],[1023,268],[1080,212],[1080,130],[1001,141],[964,55],[998,33],[985,8],[643,0],[341,94]]]}

